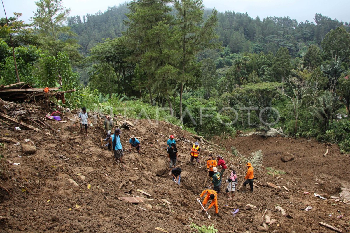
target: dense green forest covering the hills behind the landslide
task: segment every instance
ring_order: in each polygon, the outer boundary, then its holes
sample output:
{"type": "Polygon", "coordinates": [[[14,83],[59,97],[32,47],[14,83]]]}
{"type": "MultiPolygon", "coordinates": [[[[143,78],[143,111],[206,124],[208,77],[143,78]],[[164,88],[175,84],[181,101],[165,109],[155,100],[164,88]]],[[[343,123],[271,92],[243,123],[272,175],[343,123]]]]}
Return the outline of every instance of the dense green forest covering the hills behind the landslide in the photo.
{"type": "Polygon", "coordinates": [[[166,120],[205,137],[279,128],[350,152],[350,29],[315,14],[253,19],[200,0],[136,0],[69,16],[40,0],[0,19],[0,84],[75,88],[67,107],[166,120]]]}

